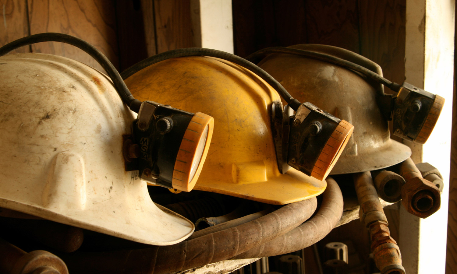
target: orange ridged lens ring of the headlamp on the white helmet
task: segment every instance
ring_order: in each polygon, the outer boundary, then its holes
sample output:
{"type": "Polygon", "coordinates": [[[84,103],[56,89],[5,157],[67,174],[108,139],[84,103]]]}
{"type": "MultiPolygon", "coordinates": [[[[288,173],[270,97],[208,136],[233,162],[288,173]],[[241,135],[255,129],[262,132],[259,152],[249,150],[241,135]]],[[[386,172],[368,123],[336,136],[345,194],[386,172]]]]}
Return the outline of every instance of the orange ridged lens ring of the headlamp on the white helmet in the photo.
{"type": "Polygon", "coordinates": [[[202,112],[192,116],[176,155],[171,181],[173,188],[191,191],[195,186],[208,153],[213,128],[213,117],[202,112]]]}

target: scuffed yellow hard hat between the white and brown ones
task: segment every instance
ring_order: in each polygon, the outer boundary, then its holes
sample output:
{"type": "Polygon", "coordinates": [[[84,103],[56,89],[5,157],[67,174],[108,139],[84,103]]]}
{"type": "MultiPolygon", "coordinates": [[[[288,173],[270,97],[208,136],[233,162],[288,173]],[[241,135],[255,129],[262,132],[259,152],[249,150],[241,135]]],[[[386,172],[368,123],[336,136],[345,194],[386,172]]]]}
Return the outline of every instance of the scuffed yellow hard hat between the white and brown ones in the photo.
{"type": "Polygon", "coordinates": [[[324,191],[325,180],[295,169],[280,173],[270,109],[281,98],[251,71],[218,58],[181,57],[143,68],[125,82],[139,100],[213,116],[213,139],[195,189],[278,205],[324,191]]]}

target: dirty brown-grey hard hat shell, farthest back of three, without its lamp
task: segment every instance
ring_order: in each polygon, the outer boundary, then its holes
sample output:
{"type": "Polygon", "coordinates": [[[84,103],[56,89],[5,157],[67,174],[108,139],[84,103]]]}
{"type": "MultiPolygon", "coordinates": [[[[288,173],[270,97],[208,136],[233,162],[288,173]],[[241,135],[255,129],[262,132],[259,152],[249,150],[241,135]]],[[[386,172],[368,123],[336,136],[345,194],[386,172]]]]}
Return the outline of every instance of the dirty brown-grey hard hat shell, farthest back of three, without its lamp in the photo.
{"type": "MultiPolygon", "coordinates": [[[[349,60],[382,76],[379,65],[339,47],[304,44],[292,48],[349,60]]],[[[259,66],[298,100],[319,105],[355,126],[330,174],[381,169],[411,155],[409,147],[390,138],[388,121],[377,103],[383,85],[339,65],[298,55],[271,54],[259,66]]]]}

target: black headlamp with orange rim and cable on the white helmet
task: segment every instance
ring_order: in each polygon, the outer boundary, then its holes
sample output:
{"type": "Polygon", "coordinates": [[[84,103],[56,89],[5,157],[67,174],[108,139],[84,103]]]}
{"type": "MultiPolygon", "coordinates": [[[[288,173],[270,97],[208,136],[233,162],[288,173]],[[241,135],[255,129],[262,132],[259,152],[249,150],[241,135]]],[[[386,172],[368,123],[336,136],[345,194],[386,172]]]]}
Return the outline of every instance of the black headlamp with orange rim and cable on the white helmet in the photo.
{"type": "Polygon", "coordinates": [[[139,170],[139,177],[152,184],[190,191],[205,162],[213,133],[213,118],[190,113],[154,101],[135,99],[113,64],[96,47],[63,33],[38,33],[0,48],[0,56],[36,42],[64,42],[79,47],[106,70],[122,102],[138,113],[132,134],[124,137],[125,170],[139,170]]]}

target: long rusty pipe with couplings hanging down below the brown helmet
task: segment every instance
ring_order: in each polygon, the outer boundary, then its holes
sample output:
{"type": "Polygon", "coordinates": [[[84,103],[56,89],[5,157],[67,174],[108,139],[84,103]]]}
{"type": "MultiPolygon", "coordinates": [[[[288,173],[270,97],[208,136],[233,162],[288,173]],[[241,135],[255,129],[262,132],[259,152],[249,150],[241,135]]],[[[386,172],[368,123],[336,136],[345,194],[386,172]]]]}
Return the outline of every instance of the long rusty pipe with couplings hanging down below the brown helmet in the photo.
{"type": "Polygon", "coordinates": [[[370,232],[376,267],[381,270],[381,274],[405,274],[401,265],[400,249],[397,242],[390,237],[388,221],[377,197],[370,172],[353,174],[353,178],[360,204],[360,221],[370,232]]]}

